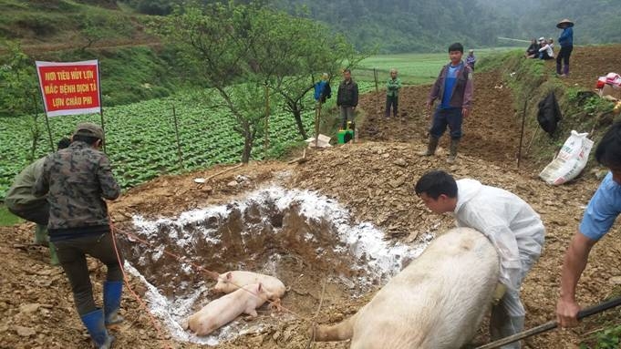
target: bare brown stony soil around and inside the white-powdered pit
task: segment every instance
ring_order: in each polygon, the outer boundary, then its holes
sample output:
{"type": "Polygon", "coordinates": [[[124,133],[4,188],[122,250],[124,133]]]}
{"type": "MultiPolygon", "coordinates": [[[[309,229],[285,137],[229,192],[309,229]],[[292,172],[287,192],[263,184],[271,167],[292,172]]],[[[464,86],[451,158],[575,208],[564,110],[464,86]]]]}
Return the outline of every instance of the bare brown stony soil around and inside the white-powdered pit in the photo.
{"type": "MultiPolygon", "coordinates": [[[[568,86],[593,87],[597,76],[615,71],[605,62],[620,59],[618,57],[621,57],[621,46],[577,47],[572,75],[565,82],[568,86]]],[[[620,67],[618,63],[616,67],[620,67]]],[[[426,146],[430,112],[425,110],[424,101],[430,87],[407,87],[400,98],[401,118],[397,119],[383,118],[383,112],[377,107],[383,104],[383,96],[378,98],[369,94],[362,98],[361,108],[367,117],[357,144],[308,152],[307,161],[301,164],[251,163],[231,169],[202,185],[193,179],[207,178],[226,168],[216,167],[152,180],[110,203],[114,226],[119,231],[131,231],[134,214],[148,218],[173,217],[185,210],[226,204],[249,190],[276,182],[292,189],[316,190],[345,205],[354,221],[377,225],[386,232],[387,239],[414,243],[421,232],[430,229],[444,231],[452,227],[450,217],[432,215],[412,193],[412,187],[422,173],[429,169],[447,169],[457,178],[474,178],[484,184],[511,190],[542,215],[547,230],[545,250],[523,283],[523,303],[527,327],[554,320],[564,251],[598,180],[587,174],[562,187],[550,187],[536,178],[540,168],[525,166],[516,170],[521,124],[512,108],[510,90],[503,85],[498,72],[475,74],[475,107],[464,125],[462,152],[456,165],[448,166],[445,162],[446,137],[442,139],[437,156],[421,158],[417,155],[426,146]],[[236,181],[239,175],[247,180],[236,181]]],[[[46,248],[31,245],[33,231],[31,223],[0,228],[5,238],[0,241],[0,253],[4,256],[4,262],[0,264],[0,348],[88,348],[88,334],[78,319],[67,278],[61,268],[47,263],[46,248]]],[[[598,243],[591,253],[579,284],[578,298],[583,304],[601,302],[616,289],[616,282],[621,277],[618,267],[621,241],[616,239],[617,233],[618,228],[598,243]]],[[[262,308],[259,318],[252,320],[266,324],[262,331],[240,335],[231,342],[218,345],[218,348],[305,348],[308,320],[315,315],[322,299],[316,322],[337,323],[355,313],[372,297],[373,291],[360,297],[353,296],[343,283],[326,278],[327,274],[335,272],[347,275],[347,267],[309,262],[305,260],[311,259],[310,255],[305,255],[307,250],[300,250],[293,243],[287,245],[287,241],[294,240],[293,236],[283,239],[277,243],[254,241],[251,248],[260,256],[265,249],[271,248],[266,246],[281,246],[278,249],[285,260],[285,270],[279,276],[291,286],[283,303],[295,314],[272,313],[262,308]],[[290,251],[290,258],[287,258],[287,251],[290,251]],[[309,276],[300,278],[302,273],[309,276]],[[324,281],[326,292],[322,297],[324,281]]],[[[324,246],[335,243],[329,239],[322,242],[324,246]]],[[[140,242],[124,243],[132,249],[132,244],[140,242]]],[[[233,245],[234,241],[230,241],[227,246],[231,248],[233,245]]],[[[184,251],[178,249],[175,252],[184,251]]],[[[252,265],[249,262],[251,257],[245,256],[243,251],[231,251],[220,262],[210,260],[210,256],[202,258],[205,258],[205,265],[212,267],[229,268],[239,262],[252,265]]],[[[171,294],[175,292],[176,261],[163,261],[152,268],[164,269],[171,274],[171,282],[164,288],[165,293],[171,294]]],[[[89,269],[100,303],[106,268],[93,260],[89,262],[89,269]]],[[[194,278],[196,282],[209,282],[208,275],[199,271],[194,278]]],[[[129,276],[129,284],[135,293],[144,297],[146,289],[138,279],[129,276]]],[[[398,305],[398,300],[395,302],[398,305]]],[[[602,328],[606,320],[618,317],[617,312],[587,319],[574,330],[552,331],[532,337],[525,341],[524,347],[577,347],[589,333],[602,328]]],[[[121,313],[127,321],[112,331],[117,336],[117,348],[201,346],[175,343],[165,330],[161,330],[160,337],[149,314],[129,292],[123,294],[121,313]]],[[[481,329],[475,343],[487,342],[485,333],[481,329]]],[[[315,347],[346,348],[347,343],[315,344],[315,347]]]]}

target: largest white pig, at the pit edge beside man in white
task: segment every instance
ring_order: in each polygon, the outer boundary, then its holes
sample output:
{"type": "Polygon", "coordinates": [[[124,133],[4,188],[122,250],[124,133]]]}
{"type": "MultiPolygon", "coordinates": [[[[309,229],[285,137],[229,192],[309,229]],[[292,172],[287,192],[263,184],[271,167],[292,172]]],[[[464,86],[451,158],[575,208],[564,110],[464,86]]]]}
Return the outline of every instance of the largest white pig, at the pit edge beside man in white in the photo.
{"type": "Polygon", "coordinates": [[[480,232],[446,232],[352,317],[318,326],[316,341],[351,338],[352,349],[456,349],[492,303],[498,253],[480,232]]]}

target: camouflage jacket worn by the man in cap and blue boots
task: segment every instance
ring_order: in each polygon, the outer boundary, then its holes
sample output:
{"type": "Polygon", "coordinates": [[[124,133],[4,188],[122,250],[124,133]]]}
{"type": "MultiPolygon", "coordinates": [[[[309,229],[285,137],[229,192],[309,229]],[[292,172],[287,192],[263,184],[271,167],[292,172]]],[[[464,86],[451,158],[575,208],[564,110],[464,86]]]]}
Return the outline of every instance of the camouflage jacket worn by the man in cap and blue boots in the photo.
{"type": "Polygon", "coordinates": [[[46,193],[51,235],[52,230],[109,225],[104,199],[117,199],[120,190],[106,154],[74,141],[47,157],[34,194],[46,193]]]}

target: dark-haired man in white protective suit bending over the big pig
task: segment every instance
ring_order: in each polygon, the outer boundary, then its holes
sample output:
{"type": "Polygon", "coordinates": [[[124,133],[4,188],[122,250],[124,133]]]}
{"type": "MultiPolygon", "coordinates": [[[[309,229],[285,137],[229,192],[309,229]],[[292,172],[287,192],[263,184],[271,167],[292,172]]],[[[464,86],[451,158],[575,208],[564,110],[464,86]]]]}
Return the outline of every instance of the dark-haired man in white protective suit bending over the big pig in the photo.
{"type": "MultiPolygon", "coordinates": [[[[434,213],[451,212],[457,225],[481,231],[501,259],[500,289],[506,289],[500,303],[492,306],[492,341],[523,331],[524,306],[520,286],[537,261],[545,229],[539,214],[517,195],[482,185],[478,180],[454,180],[434,170],[425,173],[415,187],[416,194],[434,213]]],[[[519,342],[502,349],[520,348],[519,342]]]]}

